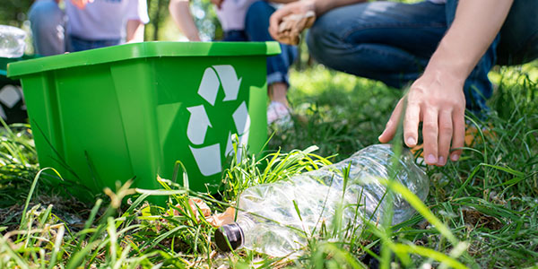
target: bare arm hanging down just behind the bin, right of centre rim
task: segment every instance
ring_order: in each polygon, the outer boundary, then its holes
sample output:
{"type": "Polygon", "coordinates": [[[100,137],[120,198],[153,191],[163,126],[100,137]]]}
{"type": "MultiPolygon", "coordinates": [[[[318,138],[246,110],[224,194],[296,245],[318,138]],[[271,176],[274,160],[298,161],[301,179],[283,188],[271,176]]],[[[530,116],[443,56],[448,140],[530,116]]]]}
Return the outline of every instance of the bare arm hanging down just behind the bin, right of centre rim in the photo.
{"type": "Polygon", "coordinates": [[[169,12],[172,19],[178,25],[179,30],[190,41],[200,41],[198,29],[195,25],[195,20],[190,12],[189,0],[171,0],[169,4],[169,12]]]}

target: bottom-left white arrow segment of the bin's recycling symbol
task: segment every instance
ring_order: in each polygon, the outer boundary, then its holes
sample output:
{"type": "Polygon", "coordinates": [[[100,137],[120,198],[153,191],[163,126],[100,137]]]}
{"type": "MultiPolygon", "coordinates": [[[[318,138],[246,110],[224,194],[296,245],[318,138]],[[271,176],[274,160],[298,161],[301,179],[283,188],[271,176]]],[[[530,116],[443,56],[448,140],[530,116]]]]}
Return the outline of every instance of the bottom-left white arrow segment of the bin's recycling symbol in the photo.
{"type": "Polygon", "coordinates": [[[188,146],[195,156],[198,169],[205,177],[220,173],[221,165],[221,145],[218,143],[196,149],[188,146]]]}

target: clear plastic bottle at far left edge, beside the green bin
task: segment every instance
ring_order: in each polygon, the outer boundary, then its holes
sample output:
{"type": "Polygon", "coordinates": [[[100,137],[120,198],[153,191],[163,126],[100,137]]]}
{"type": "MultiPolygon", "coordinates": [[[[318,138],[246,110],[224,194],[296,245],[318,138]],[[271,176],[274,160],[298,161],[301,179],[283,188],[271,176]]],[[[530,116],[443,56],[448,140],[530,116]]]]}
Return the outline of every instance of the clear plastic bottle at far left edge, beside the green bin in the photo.
{"type": "Polygon", "coordinates": [[[17,58],[24,54],[26,32],[19,28],[0,25],[0,57],[17,58]]]}

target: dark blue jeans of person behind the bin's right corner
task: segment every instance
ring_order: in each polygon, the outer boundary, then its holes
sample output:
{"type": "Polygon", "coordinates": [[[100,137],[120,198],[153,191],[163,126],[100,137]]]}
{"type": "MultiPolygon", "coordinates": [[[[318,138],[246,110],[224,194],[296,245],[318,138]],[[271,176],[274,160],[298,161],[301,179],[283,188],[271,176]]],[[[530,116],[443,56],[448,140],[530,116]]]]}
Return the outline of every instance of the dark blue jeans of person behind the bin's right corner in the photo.
{"type": "MultiPolygon", "coordinates": [[[[265,1],[251,4],[245,18],[245,30],[229,30],[224,33],[223,41],[273,41],[269,34],[269,17],[274,7],[265,1]]],[[[288,69],[297,57],[297,48],[280,44],[282,53],[267,57],[267,85],[274,82],[290,84],[288,69]]]]}

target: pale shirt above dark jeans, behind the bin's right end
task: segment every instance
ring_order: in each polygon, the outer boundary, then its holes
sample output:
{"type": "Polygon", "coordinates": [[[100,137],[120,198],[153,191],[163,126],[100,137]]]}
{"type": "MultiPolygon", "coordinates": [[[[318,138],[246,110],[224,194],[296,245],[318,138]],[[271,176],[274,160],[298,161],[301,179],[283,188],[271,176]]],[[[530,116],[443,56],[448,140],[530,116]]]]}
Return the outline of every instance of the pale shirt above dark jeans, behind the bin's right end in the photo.
{"type": "Polygon", "coordinates": [[[250,4],[256,0],[224,0],[221,9],[217,8],[217,17],[222,30],[245,30],[245,17],[250,4]]]}

